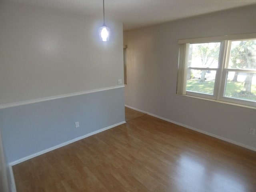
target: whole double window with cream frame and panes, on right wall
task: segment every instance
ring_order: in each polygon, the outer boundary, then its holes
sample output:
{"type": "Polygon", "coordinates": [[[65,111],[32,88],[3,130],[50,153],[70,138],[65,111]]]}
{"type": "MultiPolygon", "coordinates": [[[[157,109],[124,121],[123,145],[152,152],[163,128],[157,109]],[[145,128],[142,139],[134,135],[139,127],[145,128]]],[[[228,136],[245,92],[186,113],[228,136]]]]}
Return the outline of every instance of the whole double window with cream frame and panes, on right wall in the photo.
{"type": "Polygon", "coordinates": [[[256,107],[256,34],[178,43],[177,94],[256,107]]]}

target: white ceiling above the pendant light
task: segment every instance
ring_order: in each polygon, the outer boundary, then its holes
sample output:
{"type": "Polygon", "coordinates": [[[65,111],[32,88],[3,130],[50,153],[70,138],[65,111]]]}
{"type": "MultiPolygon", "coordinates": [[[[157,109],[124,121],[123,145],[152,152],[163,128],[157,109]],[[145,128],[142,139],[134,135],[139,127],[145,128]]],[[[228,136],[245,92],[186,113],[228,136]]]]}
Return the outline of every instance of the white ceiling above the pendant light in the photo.
{"type": "MultiPolygon", "coordinates": [[[[5,1],[92,16],[102,15],[103,10],[102,0],[5,1]]],[[[122,21],[128,30],[250,4],[256,0],[105,0],[105,17],[122,21]]]]}

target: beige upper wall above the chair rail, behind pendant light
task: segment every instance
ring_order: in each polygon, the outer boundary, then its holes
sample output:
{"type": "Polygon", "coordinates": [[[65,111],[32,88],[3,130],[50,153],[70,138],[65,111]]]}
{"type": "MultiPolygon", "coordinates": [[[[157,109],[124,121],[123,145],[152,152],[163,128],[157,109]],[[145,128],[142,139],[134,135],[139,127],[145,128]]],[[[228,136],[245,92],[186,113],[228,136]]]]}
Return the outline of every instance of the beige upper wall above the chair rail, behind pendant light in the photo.
{"type": "Polygon", "coordinates": [[[32,6],[0,6],[0,105],[116,86],[123,79],[122,22],[32,6]]]}

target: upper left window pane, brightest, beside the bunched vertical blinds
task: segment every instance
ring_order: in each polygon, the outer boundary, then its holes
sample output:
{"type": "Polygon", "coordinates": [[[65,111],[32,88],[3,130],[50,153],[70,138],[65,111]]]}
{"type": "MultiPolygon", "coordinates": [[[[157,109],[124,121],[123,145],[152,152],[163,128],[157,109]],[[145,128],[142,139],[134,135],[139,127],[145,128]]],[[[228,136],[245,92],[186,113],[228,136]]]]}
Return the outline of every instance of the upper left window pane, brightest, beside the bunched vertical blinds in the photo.
{"type": "Polygon", "coordinates": [[[188,66],[218,68],[220,42],[190,44],[188,66]]]}

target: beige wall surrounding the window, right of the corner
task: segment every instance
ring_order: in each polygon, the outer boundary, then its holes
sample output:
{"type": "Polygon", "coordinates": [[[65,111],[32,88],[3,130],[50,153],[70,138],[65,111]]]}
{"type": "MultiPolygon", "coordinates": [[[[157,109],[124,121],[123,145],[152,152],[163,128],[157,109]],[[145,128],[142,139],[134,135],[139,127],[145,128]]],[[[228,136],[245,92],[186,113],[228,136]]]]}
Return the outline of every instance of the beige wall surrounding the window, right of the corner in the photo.
{"type": "Polygon", "coordinates": [[[124,32],[126,105],[256,148],[254,109],[176,95],[178,40],[256,32],[256,6],[124,32]]]}

